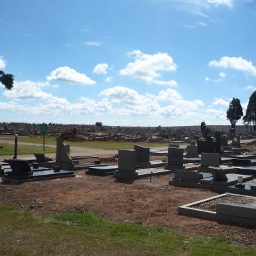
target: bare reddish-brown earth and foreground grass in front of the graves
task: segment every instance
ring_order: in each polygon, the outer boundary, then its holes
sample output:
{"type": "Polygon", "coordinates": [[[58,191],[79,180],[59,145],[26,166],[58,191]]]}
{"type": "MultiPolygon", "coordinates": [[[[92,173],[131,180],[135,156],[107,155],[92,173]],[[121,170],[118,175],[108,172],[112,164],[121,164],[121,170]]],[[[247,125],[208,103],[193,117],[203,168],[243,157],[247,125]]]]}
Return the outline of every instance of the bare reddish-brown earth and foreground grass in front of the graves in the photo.
{"type": "Polygon", "coordinates": [[[169,186],[171,177],[116,182],[76,171],[1,184],[0,255],[256,255],[255,228],[178,215],[178,206],[217,193],[169,186]]]}

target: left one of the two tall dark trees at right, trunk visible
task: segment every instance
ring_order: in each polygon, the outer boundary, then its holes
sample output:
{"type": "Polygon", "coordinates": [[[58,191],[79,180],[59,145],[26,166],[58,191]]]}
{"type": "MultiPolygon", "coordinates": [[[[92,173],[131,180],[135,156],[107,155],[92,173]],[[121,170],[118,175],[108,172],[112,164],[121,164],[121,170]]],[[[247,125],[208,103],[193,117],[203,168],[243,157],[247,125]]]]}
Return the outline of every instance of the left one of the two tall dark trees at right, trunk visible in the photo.
{"type": "Polygon", "coordinates": [[[235,125],[237,121],[242,118],[243,109],[240,103],[239,98],[233,98],[231,103],[229,103],[228,110],[226,111],[226,118],[231,122],[231,129],[235,134],[235,125]]]}

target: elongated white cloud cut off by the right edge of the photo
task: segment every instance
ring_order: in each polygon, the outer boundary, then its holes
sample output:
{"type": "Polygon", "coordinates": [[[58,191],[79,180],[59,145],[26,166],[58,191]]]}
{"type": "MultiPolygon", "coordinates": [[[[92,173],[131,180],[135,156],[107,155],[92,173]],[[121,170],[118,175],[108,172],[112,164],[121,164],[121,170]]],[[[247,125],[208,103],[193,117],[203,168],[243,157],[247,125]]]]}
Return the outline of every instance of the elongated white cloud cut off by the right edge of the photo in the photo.
{"type": "Polygon", "coordinates": [[[230,70],[239,70],[245,72],[246,74],[250,74],[256,76],[256,67],[253,65],[251,61],[247,61],[242,57],[228,57],[224,56],[220,58],[220,61],[210,61],[210,67],[223,67],[225,69],[230,70]]]}

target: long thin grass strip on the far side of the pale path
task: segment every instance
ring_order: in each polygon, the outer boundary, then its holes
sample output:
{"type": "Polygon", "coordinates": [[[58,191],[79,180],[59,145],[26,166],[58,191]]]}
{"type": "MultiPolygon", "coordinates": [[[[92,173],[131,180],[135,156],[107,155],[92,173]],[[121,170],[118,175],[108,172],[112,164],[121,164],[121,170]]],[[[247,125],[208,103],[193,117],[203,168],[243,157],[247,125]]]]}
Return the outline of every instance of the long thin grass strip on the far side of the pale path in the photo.
{"type": "MultiPolygon", "coordinates": [[[[0,140],[14,140],[14,137],[0,137],[0,140]]],[[[43,143],[42,136],[21,136],[18,139],[20,142],[30,142],[41,144],[43,143]]],[[[127,142],[127,141],[84,141],[84,142],[70,142],[67,141],[67,144],[70,146],[77,146],[77,147],[89,147],[92,149],[109,149],[109,150],[116,150],[116,149],[132,149],[134,145],[138,144],[144,147],[167,147],[167,143],[160,143],[160,142],[127,142]]],[[[45,144],[49,145],[56,145],[56,137],[45,137],[45,144]]]]}

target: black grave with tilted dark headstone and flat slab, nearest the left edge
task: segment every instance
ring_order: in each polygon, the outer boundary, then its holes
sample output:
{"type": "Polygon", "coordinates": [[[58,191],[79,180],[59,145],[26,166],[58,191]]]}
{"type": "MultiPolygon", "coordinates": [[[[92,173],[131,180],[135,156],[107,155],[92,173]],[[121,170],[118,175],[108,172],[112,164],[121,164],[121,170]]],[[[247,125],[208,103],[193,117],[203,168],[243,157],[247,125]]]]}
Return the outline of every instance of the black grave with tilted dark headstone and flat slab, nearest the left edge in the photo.
{"type": "Polygon", "coordinates": [[[44,180],[51,178],[66,178],[73,177],[73,171],[64,171],[60,167],[54,167],[54,169],[48,169],[46,171],[33,171],[27,160],[9,160],[11,171],[3,175],[3,182],[11,182],[19,184],[22,182],[44,180]]]}

